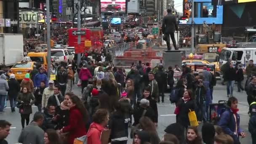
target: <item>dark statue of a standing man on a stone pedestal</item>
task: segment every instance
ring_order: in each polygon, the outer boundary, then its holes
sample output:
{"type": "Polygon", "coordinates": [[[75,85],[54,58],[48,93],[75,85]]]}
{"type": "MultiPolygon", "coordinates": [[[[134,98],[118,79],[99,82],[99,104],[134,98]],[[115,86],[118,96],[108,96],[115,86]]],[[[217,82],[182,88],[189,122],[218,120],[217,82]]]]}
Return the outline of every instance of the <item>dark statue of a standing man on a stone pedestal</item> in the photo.
{"type": "Polygon", "coordinates": [[[178,24],[176,22],[176,17],[171,13],[171,9],[167,9],[167,15],[163,18],[163,24],[162,24],[162,32],[165,35],[165,40],[166,40],[166,45],[168,51],[171,50],[171,45],[170,45],[170,37],[173,42],[173,46],[175,50],[178,50],[176,45],[176,40],[174,37],[174,32],[175,30],[178,31],[178,24]]]}

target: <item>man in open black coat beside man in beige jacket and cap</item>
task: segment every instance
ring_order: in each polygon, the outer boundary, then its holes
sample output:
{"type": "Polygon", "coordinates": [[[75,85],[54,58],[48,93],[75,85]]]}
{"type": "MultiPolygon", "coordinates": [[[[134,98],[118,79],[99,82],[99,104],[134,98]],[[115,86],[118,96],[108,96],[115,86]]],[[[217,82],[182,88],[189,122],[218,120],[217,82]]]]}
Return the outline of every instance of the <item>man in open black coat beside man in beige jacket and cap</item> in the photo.
{"type": "Polygon", "coordinates": [[[54,94],[48,99],[48,105],[53,105],[56,108],[56,112],[60,111],[61,102],[64,101],[64,97],[61,96],[60,88],[56,85],[54,87],[54,94]]]}

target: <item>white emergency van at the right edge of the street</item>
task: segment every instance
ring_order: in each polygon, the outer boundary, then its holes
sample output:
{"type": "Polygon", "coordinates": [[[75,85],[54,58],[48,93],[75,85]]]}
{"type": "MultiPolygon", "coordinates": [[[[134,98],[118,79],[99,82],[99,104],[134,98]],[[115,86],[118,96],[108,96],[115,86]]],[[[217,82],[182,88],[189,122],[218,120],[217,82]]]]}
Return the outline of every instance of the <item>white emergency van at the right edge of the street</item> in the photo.
{"type": "Polygon", "coordinates": [[[238,43],[235,48],[222,48],[220,63],[225,64],[229,58],[233,64],[239,62],[246,66],[251,59],[256,63],[256,43],[238,43]]]}

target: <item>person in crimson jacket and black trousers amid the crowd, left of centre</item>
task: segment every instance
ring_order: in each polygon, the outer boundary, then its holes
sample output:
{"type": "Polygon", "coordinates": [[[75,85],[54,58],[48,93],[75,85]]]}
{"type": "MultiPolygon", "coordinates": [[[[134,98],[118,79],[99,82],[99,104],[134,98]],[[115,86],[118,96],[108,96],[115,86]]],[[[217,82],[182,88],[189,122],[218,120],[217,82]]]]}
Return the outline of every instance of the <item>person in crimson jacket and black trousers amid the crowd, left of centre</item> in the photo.
{"type": "Polygon", "coordinates": [[[92,78],[92,75],[91,75],[89,69],[87,69],[87,64],[84,64],[83,68],[80,70],[79,78],[81,80],[82,93],[83,93],[83,89],[85,87],[87,87],[87,85],[88,85],[88,78],[92,78]]]}

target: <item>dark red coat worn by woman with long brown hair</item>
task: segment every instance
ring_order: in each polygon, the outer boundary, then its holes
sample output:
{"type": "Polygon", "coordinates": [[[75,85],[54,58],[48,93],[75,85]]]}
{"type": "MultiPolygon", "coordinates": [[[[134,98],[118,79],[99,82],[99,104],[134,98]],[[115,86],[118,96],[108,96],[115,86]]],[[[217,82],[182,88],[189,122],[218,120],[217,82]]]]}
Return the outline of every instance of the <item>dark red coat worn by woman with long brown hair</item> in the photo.
{"type": "Polygon", "coordinates": [[[69,122],[68,125],[63,128],[63,132],[69,132],[68,144],[74,144],[75,138],[86,135],[85,122],[76,106],[69,109],[69,122]]]}

